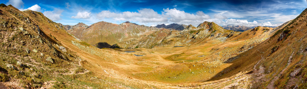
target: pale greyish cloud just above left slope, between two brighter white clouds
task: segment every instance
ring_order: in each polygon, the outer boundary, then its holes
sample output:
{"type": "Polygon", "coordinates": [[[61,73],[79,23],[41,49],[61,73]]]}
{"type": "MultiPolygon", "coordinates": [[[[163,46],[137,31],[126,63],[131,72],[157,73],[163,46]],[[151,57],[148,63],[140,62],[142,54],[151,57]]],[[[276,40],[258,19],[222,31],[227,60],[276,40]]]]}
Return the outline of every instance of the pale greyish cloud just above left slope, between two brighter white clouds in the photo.
{"type": "Polygon", "coordinates": [[[59,21],[61,20],[60,16],[62,16],[63,11],[61,9],[54,9],[53,11],[45,11],[43,14],[52,21],[59,21]]]}

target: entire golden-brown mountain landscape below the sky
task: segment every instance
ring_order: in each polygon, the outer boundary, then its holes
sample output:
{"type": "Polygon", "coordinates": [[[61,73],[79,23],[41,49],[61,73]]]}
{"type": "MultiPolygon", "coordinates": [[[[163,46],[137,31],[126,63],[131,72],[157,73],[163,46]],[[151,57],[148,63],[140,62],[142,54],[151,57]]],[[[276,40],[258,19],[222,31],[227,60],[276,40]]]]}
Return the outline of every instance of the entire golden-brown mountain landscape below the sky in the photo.
{"type": "Polygon", "coordinates": [[[307,9],[281,26],[244,32],[214,22],[183,30],[69,26],[4,4],[0,16],[4,89],[307,87],[307,9]]]}

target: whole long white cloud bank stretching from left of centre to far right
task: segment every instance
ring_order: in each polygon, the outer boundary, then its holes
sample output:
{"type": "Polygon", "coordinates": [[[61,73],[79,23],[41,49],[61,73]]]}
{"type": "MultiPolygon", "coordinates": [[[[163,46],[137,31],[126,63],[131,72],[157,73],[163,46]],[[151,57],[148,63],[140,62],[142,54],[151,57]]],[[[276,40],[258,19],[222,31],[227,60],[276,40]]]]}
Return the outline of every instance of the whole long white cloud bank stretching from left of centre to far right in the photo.
{"type": "MultiPolygon", "coordinates": [[[[121,12],[115,13],[108,10],[101,11],[96,14],[95,18],[100,20],[112,19],[115,21],[131,21],[139,22],[140,24],[146,24],[148,26],[156,26],[157,24],[192,24],[193,26],[198,26],[204,21],[215,22],[220,26],[225,25],[240,25],[240,26],[279,26],[277,24],[272,24],[271,22],[261,22],[257,21],[248,22],[247,20],[240,19],[228,19],[224,16],[224,13],[229,13],[228,11],[223,11],[214,15],[212,19],[209,15],[202,11],[196,12],[196,14],[188,13],[185,11],[173,9],[163,9],[162,14],[158,14],[153,9],[140,9],[138,12],[121,12]]],[[[77,15],[78,16],[78,15],[77,15]]],[[[280,15],[274,15],[275,17],[280,15]]]]}

